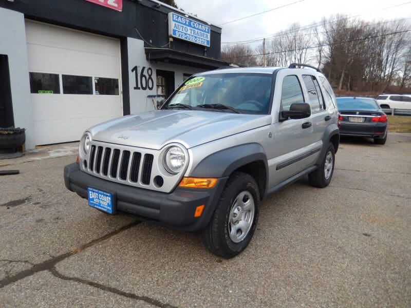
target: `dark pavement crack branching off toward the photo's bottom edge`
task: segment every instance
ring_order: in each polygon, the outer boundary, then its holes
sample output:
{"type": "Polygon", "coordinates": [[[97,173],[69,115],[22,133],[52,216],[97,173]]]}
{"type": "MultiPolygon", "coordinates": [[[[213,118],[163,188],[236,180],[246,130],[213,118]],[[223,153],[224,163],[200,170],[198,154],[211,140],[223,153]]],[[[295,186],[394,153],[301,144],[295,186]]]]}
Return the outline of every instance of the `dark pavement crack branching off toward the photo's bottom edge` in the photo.
{"type": "Polygon", "coordinates": [[[53,276],[55,276],[57,278],[60,278],[60,279],[63,279],[63,280],[74,281],[74,282],[78,282],[78,283],[87,284],[87,285],[99,288],[100,290],[103,290],[103,291],[106,291],[106,292],[111,292],[111,293],[121,295],[121,296],[124,296],[124,297],[127,297],[127,298],[135,299],[135,300],[141,300],[141,301],[144,301],[148,304],[154,305],[156,307],[176,308],[175,306],[172,306],[170,304],[164,304],[164,303],[160,302],[159,300],[153,299],[153,298],[148,297],[148,296],[139,296],[139,295],[136,295],[134,293],[124,292],[124,291],[119,290],[118,288],[107,286],[107,285],[100,284],[100,283],[90,281],[90,280],[86,280],[86,279],[83,279],[83,278],[65,276],[65,275],[61,274],[60,272],[58,272],[57,269],[54,266],[49,268],[48,270],[53,276]]]}

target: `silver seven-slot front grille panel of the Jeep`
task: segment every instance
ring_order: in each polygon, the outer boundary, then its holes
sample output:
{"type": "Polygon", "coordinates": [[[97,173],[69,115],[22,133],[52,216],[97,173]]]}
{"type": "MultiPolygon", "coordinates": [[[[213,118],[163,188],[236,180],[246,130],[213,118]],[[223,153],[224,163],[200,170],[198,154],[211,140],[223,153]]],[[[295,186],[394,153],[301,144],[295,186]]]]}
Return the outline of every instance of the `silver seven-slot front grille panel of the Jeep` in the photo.
{"type": "Polygon", "coordinates": [[[169,174],[162,165],[161,152],[93,140],[87,157],[80,157],[80,168],[108,181],[170,192],[181,181],[184,171],[169,174]],[[162,185],[154,182],[157,176],[163,179],[162,185]]]}

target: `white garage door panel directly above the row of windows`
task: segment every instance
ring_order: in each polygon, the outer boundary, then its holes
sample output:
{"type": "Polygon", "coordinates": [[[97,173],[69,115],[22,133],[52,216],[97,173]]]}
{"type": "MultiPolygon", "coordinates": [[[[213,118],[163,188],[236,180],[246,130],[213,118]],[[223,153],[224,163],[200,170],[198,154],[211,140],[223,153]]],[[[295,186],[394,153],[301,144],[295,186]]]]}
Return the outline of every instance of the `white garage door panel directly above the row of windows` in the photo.
{"type": "Polygon", "coordinates": [[[114,77],[119,75],[119,57],[54,47],[27,45],[29,71],[114,77]]]}

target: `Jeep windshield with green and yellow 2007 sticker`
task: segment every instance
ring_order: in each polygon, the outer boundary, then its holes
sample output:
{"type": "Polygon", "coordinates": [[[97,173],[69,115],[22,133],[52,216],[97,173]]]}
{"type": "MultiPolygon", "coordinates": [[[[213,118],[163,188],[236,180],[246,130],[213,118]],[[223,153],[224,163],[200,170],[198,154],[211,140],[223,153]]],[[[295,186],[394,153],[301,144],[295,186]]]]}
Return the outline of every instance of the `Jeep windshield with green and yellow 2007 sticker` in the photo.
{"type": "Polygon", "coordinates": [[[216,73],[183,83],[161,109],[268,114],[272,74],[216,73]]]}

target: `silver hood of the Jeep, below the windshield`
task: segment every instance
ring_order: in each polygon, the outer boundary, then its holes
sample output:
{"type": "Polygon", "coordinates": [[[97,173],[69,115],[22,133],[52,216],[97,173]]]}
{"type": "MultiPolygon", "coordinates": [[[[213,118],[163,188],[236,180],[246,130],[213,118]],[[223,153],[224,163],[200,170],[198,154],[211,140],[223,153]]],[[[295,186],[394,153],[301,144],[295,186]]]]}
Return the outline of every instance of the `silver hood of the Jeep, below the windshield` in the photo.
{"type": "Polygon", "coordinates": [[[160,149],[171,142],[191,148],[271,124],[271,115],[200,110],[155,110],[91,127],[92,139],[160,149]]]}

